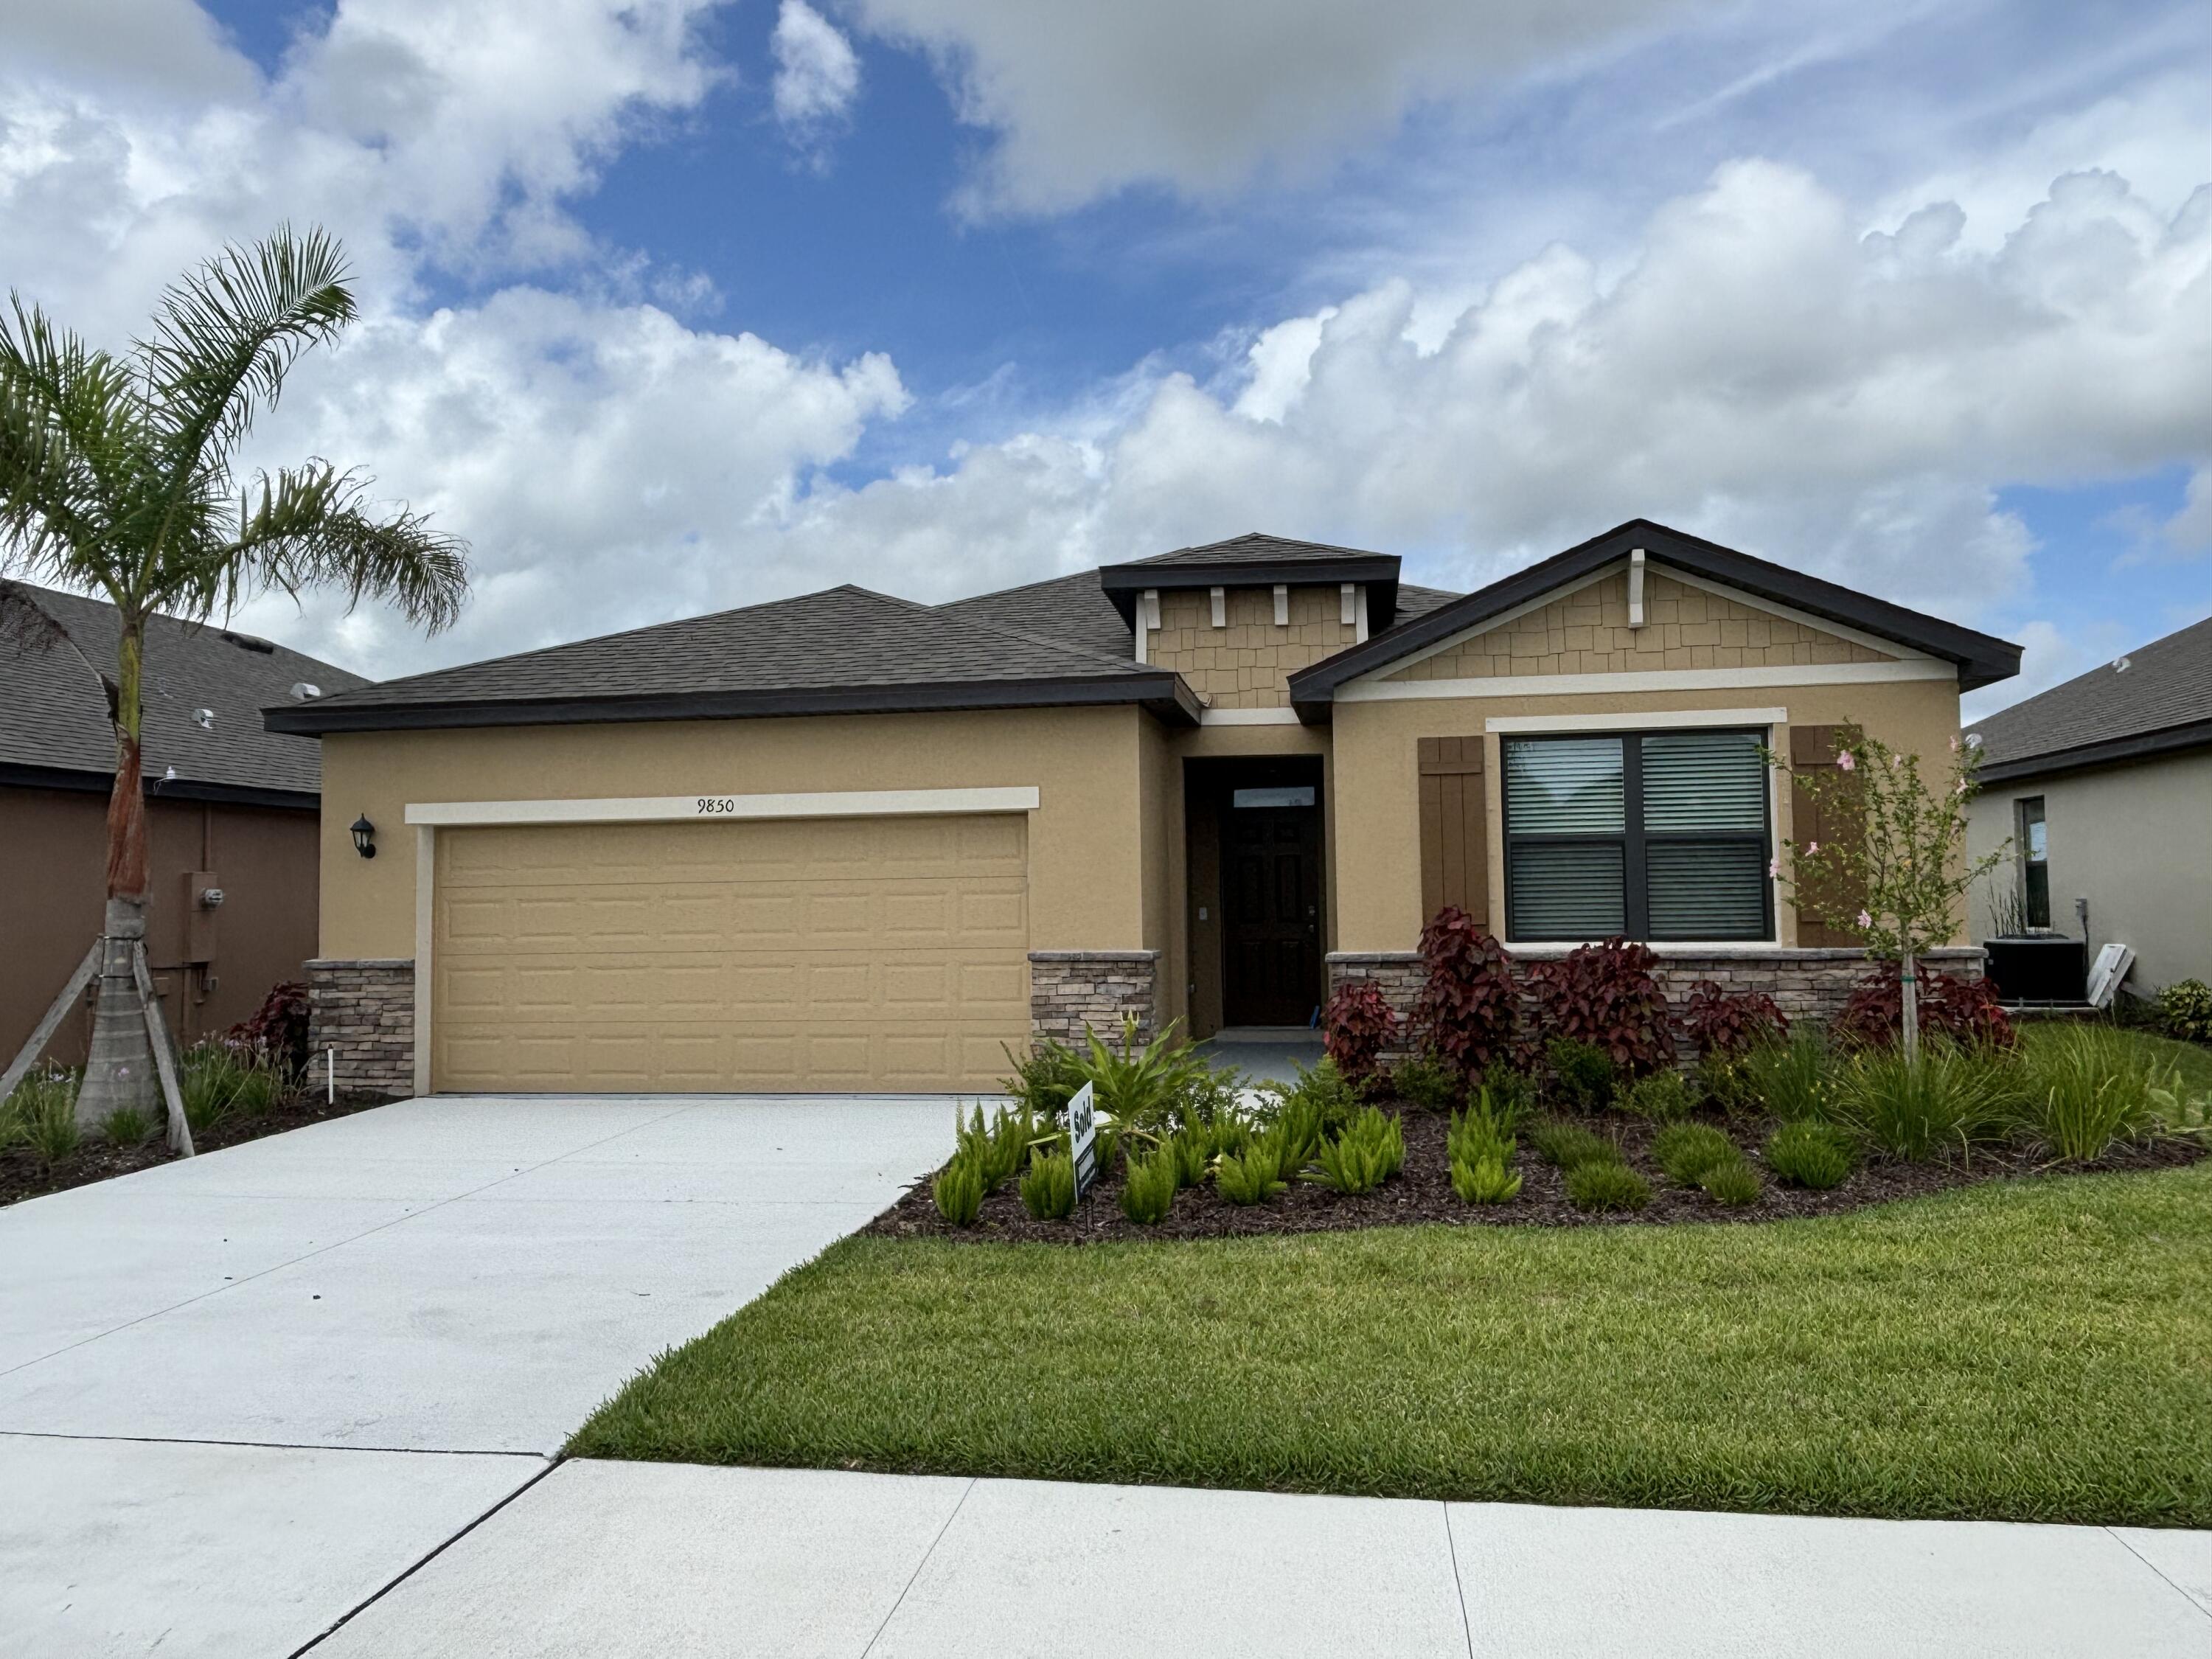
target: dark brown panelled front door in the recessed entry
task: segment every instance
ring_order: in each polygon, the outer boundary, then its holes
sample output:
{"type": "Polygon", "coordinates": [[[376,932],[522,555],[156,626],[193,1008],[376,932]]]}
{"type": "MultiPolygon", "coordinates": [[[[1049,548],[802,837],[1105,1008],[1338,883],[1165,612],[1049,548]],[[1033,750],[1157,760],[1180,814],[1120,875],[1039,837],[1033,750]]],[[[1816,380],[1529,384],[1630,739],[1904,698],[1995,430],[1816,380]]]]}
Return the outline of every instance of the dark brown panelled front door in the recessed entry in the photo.
{"type": "Polygon", "coordinates": [[[1303,1026],[1321,1002],[1321,807],[1312,785],[1232,790],[1221,812],[1221,1018],[1303,1026]]]}

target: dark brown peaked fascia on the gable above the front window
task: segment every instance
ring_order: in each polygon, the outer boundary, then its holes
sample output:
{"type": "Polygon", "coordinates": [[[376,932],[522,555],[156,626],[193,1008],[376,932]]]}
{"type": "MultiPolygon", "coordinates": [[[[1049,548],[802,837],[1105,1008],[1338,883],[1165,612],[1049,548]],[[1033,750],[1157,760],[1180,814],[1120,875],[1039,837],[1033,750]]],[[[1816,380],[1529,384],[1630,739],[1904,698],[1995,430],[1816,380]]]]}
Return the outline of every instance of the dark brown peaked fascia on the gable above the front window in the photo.
{"type": "Polygon", "coordinates": [[[1648,518],[1632,518],[1604,535],[1555,553],[1540,564],[1531,564],[1526,571],[1515,571],[1502,582],[1491,582],[1486,588],[1475,588],[1462,599],[1442,604],[1425,617],[1394,628],[1387,637],[1369,639],[1363,646],[1352,646],[1352,650],[1338,650],[1334,657],[1303,668],[1290,677],[1292,708],[1307,723],[1327,721],[1327,706],[1336,688],[1347,679],[1369,675],[1400,657],[1413,655],[1422,646],[1433,646],[1513,606],[1537,599],[1551,588],[1626,560],[1635,546],[1641,546],[1657,564],[1672,564],[1754,597],[1787,604],[1825,622],[1838,622],[1847,628],[1858,628],[1860,633],[1871,633],[1880,639],[1958,664],[1958,688],[1962,692],[1993,686],[2020,672],[2020,646],[2008,639],[1960,628],[1955,622],[1944,622],[1922,611],[1907,611],[1900,604],[1889,604],[1869,593],[1823,582],[1816,575],[1803,575],[1767,560],[1754,560],[1750,553],[1736,553],[1732,546],[1670,531],[1666,524],[1652,524],[1648,518]]]}

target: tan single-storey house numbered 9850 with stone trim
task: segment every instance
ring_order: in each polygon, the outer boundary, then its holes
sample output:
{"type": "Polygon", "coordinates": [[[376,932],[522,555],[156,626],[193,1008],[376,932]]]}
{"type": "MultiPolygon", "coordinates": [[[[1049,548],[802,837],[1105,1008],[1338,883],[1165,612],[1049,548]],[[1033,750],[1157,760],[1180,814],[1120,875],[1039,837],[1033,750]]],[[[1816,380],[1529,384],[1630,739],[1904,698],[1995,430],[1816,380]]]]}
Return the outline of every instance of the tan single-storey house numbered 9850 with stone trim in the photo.
{"type": "MultiPolygon", "coordinates": [[[[270,710],[319,734],[319,1042],[392,1091],[984,1088],[1033,1033],[1400,1002],[1462,905],[1829,1011],[1763,745],[1942,754],[2020,648],[1644,520],[1464,597],[1241,535],[270,710]],[[345,823],[376,825],[356,856],[345,823]]],[[[1971,969],[1978,953],[1953,953],[1971,969]]]]}

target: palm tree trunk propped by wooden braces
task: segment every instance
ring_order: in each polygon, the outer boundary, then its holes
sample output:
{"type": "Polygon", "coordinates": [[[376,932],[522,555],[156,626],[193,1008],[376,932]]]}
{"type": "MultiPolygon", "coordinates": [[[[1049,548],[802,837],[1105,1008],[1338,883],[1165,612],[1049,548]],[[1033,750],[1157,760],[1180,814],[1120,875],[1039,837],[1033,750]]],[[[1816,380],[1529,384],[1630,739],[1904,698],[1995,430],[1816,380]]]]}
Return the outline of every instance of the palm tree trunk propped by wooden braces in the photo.
{"type": "Polygon", "coordinates": [[[146,1037],[146,1006],[131,973],[131,951],[146,938],[146,783],[142,776],[144,624],[124,617],[115,653],[115,787],[108,792],[108,909],[100,945],[100,1000],[93,1004],[93,1053],[77,1091],[77,1124],[97,1128],[124,1106],[164,1121],[161,1086],[146,1037]]]}

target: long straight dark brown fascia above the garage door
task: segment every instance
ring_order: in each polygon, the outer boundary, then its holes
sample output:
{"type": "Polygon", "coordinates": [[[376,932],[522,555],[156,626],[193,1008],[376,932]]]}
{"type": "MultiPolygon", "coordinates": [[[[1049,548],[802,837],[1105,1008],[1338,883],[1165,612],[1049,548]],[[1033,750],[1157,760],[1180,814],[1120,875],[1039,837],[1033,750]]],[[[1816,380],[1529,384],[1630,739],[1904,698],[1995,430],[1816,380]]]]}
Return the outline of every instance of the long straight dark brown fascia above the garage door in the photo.
{"type": "Polygon", "coordinates": [[[599,726],[617,721],[770,719],[776,714],[931,714],[969,708],[1079,708],[1141,703],[1170,726],[1197,726],[1199,699],[1181,675],[987,679],[823,690],[668,692],[657,697],[515,697],[442,703],[279,703],[272,732],[418,732],[462,726],[599,726]]]}

